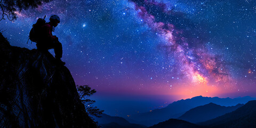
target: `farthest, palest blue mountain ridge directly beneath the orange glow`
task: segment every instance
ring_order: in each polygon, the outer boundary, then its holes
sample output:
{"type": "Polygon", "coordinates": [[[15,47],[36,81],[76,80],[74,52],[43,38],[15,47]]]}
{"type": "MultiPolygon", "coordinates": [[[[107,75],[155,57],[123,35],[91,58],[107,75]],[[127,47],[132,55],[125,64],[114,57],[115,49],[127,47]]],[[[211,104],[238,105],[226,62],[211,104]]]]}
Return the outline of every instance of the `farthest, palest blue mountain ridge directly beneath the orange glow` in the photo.
{"type": "Polygon", "coordinates": [[[178,118],[192,108],[203,106],[211,102],[221,106],[235,106],[238,103],[246,103],[250,100],[256,100],[256,98],[243,97],[231,99],[198,96],[191,99],[175,101],[162,109],[155,109],[151,112],[132,115],[127,120],[129,120],[131,123],[140,123],[146,126],[151,126],[153,124],[166,121],[170,118],[178,118]]]}

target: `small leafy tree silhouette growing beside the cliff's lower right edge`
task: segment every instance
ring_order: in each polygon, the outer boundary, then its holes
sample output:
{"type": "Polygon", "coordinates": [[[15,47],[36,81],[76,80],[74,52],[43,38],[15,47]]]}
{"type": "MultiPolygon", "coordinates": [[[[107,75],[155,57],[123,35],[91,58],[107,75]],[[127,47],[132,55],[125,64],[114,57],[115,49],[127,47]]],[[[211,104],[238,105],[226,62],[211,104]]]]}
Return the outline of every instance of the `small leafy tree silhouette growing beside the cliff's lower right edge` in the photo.
{"type": "Polygon", "coordinates": [[[91,90],[91,87],[89,87],[88,85],[82,85],[82,86],[77,85],[77,92],[89,116],[91,118],[92,116],[101,117],[100,115],[103,113],[104,110],[100,110],[99,108],[94,107],[92,105],[94,102],[96,102],[95,100],[87,99],[91,95],[96,93],[96,90],[95,89],[91,90]]]}

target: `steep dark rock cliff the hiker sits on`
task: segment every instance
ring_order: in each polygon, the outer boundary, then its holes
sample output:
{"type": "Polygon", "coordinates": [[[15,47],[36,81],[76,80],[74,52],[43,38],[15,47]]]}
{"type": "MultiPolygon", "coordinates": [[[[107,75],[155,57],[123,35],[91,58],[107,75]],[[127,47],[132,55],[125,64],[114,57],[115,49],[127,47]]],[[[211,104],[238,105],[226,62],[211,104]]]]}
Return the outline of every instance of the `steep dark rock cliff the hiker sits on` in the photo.
{"type": "Polygon", "coordinates": [[[49,52],[14,47],[0,34],[0,127],[96,127],[73,77],[49,52]]]}

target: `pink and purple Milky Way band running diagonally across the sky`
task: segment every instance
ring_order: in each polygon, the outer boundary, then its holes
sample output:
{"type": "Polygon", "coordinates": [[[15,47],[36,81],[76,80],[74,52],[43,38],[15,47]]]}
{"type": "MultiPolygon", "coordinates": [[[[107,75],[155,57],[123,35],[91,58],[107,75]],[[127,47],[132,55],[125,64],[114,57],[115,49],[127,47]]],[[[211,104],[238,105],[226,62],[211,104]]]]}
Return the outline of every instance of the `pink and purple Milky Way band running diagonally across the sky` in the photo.
{"type": "MultiPolygon", "coordinates": [[[[147,7],[148,9],[153,8],[156,9],[156,11],[162,11],[161,13],[170,17],[170,22],[172,22],[172,19],[180,18],[173,17],[173,15],[182,15],[182,13],[179,14],[180,12],[167,10],[167,5],[163,3],[145,1],[143,2],[143,5],[150,6],[147,7]]],[[[144,6],[136,5],[135,10],[138,10],[139,17],[145,21],[145,23],[155,31],[159,37],[165,40],[166,44],[163,45],[163,47],[166,47],[166,50],[170,51],[170,54],[173,53],[177,62],[181,64],[179,69],[185,77],[190,77],[191,81],[199,83],[207,83],[209,79],[212,78],[215,82],[223,80],[225,82],[228,81],[229,74],[221,59],[216,55],[209,53],[202,44],[197,43],[197,46],[189,47],[191,44],[190,42],[201,42],[199,39],[186,38],[186,35],[182,35],[183,31],[177,30],[171,23],[157,22],[155,17],[157,17],[158,14],[149,14],[144,6]],[[193,40],[195,41],[193,42],[193,40]]]]}

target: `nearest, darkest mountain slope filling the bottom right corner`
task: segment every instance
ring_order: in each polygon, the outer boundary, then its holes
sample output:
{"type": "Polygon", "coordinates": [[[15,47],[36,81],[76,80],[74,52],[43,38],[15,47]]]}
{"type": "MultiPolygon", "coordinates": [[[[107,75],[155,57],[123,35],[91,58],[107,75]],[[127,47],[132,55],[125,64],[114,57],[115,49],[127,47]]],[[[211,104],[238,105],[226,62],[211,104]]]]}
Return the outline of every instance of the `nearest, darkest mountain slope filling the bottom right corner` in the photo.
{"type": "MultiPolygon", "coordinates": [[[[215,106],[210,103],[206,106],[215,106]]],[[[238,105],[241,106],[241,105],[238,105]]],[[[202,106],[201,106],[202,107],[202,106]]],[[[198,108],[197,108],[198,109],[198,108]]],[[[196,117],[197,115],[195,115],[196,117]]],[[[179,119],[169,119],[149,128],[255,128],[256,127],[256,100],[247,102],[244,106],[237,108],[231,113],[219,116],[209,121],[193,124],[179,119]]]]}

